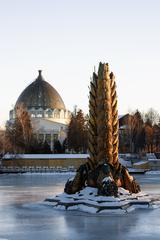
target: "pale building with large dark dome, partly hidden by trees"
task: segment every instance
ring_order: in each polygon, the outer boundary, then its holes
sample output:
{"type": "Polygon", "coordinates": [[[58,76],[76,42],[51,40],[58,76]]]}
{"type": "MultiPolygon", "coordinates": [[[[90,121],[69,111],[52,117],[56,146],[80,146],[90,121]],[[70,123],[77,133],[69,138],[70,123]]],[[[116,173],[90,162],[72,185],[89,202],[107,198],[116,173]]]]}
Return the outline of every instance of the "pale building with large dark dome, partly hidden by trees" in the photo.
{"type": "Polygon", "coordinates": [[[42,71],[38,72],[36,80],[24,89],[10,111],[10,121],[15,119],[15,109],[23,105],[30,113],[38,139],[47,141],[53,150],[56,140],[62,143],[66,138],[70,111],[66,109],[59,93],[43,79],[42,71]]]}

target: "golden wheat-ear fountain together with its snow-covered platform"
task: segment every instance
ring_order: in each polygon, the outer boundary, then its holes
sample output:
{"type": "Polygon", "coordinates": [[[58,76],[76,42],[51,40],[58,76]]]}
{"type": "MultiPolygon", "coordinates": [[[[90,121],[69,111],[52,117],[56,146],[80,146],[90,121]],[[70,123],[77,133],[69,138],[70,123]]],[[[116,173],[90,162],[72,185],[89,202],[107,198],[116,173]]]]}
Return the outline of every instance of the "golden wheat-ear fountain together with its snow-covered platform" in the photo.
{"type": "Polygon", "coordinates": [[[159,196],[141,192],[139,184],[119,162],[118,131],[115,77],[108,64],[100,63],[90,86],[89,158],[67,181],[64,193],[45,201],[54,209],[96,214],[159,207],[159,196]]]}

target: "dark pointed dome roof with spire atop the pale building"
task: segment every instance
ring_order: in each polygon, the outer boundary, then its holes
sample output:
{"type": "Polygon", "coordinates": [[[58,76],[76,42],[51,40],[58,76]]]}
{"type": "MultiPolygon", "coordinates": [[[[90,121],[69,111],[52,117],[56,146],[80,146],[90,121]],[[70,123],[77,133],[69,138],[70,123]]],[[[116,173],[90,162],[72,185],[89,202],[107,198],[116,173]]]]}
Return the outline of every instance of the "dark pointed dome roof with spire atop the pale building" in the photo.
{"type": "Polygon", "coordinates": [[[43,79],[41,72],[39,70],[37,79],[21,93],[15,107],[23,104],[27,109],[66,109],[59,93],[43,79]]]}

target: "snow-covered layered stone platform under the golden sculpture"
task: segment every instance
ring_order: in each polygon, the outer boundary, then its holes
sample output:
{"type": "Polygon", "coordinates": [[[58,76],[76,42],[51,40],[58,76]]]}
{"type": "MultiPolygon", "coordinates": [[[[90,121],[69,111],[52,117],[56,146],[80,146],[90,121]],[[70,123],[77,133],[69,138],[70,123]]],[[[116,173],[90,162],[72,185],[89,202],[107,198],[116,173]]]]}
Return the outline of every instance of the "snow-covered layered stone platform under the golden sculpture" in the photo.
{"type": "Polygon", "coordinates": [[[144,192],[130,194],[123,188],[118,189],[117,197],[100,196],[97,188],[85,187],[75,194],[62,193],[45,201],[54,209],[81,211],[87,213],[123,214],[137,208],[154,209],[160,207],[160,196],[148,195],[144,192]]]}

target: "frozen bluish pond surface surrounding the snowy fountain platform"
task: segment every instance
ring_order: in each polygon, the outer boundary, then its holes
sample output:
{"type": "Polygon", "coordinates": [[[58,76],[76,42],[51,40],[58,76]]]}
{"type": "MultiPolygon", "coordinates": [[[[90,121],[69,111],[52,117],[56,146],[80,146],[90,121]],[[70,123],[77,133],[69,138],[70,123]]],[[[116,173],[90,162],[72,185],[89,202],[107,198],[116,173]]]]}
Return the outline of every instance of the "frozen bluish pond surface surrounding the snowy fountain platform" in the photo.
{"type": "MultiPolygon", "coordinates": [[[[43,200],[63,191],[66,175],[0,175],[0,240],[160,239],[160,209],[95,216],[56,211],[43,200]]],[[[136,175],[159,194],[160,175],[136,175]]]]}

